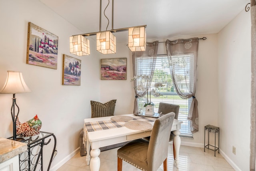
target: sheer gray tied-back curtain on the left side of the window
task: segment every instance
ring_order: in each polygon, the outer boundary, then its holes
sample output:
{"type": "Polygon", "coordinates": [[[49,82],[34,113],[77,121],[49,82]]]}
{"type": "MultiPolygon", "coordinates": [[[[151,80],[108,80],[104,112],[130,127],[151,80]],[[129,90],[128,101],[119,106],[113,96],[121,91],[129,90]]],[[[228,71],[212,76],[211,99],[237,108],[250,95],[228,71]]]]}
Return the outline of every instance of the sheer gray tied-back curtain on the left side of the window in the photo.
{"type": "MultiPolygon", "coordinates": [[[[141,52],[132,52],[132,65],[133,65],[133,76],[140,75],[148,75],[150,76],[150,80],[148,81],[148,85],[151,84],[155,66],[156,66],[156,55],[158,49],[158,41],[155,42],[147,42],[146,43],[146,51],[141,52]]],[[[137,80],[134,80],[134,113],[138,113],[138,98],[144,97],[146,95],[147,90],[138,91],[136,89],[138,84],[137,80]]]]}

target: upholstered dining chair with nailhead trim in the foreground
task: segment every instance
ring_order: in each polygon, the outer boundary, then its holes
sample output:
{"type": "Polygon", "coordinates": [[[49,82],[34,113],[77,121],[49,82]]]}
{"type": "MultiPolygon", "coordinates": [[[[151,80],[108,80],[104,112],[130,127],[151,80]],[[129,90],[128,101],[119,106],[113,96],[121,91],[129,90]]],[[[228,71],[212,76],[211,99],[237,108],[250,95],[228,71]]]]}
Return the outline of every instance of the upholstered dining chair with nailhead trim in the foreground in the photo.
{"type": "Polygon", "coordinates": [[[168,142],[175,113],[171,112],[156,119],[150,141],[135,139],[117,150],[117,170],[122,171],[126,161],[143,171],[156,171],[164,163],[167,171],[168,142]]]}

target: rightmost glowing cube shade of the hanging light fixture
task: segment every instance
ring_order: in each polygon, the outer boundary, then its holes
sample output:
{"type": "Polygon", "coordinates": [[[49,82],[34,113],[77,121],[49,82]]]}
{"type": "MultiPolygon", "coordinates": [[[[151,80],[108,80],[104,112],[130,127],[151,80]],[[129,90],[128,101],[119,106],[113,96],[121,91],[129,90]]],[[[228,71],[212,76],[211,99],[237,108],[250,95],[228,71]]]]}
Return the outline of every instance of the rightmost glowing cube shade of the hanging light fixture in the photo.
{"type": "Polygon", "coordinates": [[[132,52],[146,50],[146,29],[145,27],[129,28],[128,47],[132,52]]]}

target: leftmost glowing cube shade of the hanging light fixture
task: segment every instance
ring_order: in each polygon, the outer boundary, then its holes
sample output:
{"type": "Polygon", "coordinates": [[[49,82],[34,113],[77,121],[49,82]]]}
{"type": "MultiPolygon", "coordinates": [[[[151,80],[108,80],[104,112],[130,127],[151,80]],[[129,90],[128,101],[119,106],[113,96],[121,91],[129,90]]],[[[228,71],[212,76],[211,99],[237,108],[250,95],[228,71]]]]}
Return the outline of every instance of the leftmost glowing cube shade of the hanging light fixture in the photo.
{"type": "Polygon", "coordinates": [[[70,53],[77,56],[90,55],[90,41],[82,35],[69,37],[70,53]]]}

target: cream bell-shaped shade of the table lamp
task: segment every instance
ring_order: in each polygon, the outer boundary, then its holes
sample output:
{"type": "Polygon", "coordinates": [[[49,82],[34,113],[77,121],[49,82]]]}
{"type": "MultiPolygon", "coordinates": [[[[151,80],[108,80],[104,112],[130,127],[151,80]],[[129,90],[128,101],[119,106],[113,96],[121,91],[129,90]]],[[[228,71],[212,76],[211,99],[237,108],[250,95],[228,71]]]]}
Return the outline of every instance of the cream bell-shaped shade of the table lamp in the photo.
{"type": "Polygon", "coordinates": [[[27,93],[31,90],[26,85],[22,72],[20,71],[7,71],[7,79],[4,87],[0,90],[1,94],[16,94],[27,93]]]}

